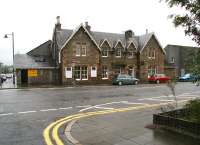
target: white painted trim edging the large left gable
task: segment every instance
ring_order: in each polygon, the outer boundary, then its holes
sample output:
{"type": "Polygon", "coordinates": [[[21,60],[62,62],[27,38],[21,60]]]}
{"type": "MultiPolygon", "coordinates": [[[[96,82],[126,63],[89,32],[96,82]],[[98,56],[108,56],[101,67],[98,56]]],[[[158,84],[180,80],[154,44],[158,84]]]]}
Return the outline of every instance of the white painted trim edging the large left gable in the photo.
{"type": "MultiPolygon", "coordinates": [[[[62,49],[67,45],[67,43],[74,37],[74,35],[79,31],[80,28],[83,28],[85,30],[85,32],[88,34],[88,36],[90,37],[90,39],[94,42],[94,44],[97,46],[98,50],[101,52],[101,48],[98,46],[97,42],[94,40],[94,38],[92,37],[92,35],[90,35],[90,33],[88,32],[88,30],[84,27],[84,25],[81,23],[71,34],[71,36],[67,39],[67,41],[63,44],[63,46],[61,47],[59,53],[61,53],[62,49]]],[[[61,63],[61,60],[59,60],[59,63],[61,63]]]]}

